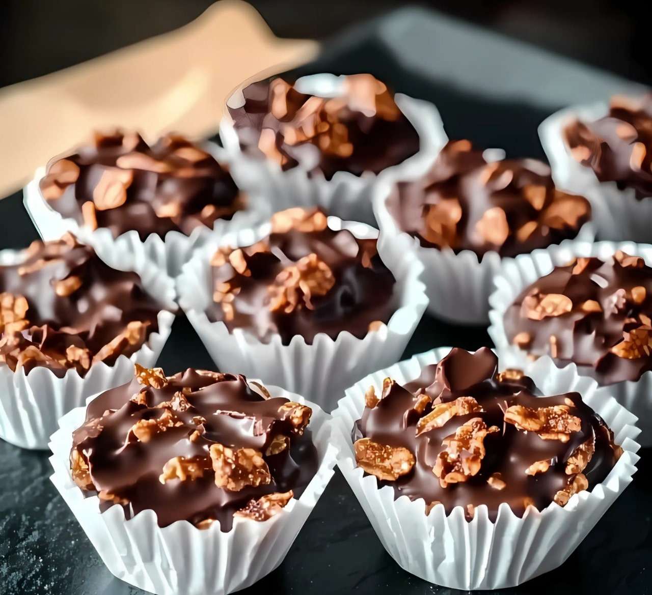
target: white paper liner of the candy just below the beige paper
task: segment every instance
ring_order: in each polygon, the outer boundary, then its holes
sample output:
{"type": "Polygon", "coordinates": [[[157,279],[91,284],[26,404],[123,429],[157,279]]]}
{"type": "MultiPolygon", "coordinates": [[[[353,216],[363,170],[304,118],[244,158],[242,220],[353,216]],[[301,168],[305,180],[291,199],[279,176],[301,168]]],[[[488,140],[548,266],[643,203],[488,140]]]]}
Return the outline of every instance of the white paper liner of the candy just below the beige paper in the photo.
{"type": "MultiPolygon", "coordinates": [[[[219,153],[218,148],[211,145],[204,145],[204,148],[212,154],[219,153]]],[[[249,194],[246,209],[235,212],[231,220],[216,220],[212,229],[203,225],[193,229],[190,235],[168,231],[165,237],[151,233],[145,240],[141,240],[138,232],[132,230],[114,238],[106,227],[92,230],[72,218],[63,217],[53,209],[38,187],[38,182],[44,175],[45,167],[39,167],[34,179],[23,189],[25,209],[42,239],[59,239],[70,231],[84,243],[91,244],[106,261],[119,263],[125,257],[135,258],[140,263],[154,265],[171,277],[177,276],[183,264],[192,257],[192,252],[203,246],[213,235],[220,236],[234,229],[252,227],[266,218],[267,209],[261,205],[261,199],[249,194]]]]}

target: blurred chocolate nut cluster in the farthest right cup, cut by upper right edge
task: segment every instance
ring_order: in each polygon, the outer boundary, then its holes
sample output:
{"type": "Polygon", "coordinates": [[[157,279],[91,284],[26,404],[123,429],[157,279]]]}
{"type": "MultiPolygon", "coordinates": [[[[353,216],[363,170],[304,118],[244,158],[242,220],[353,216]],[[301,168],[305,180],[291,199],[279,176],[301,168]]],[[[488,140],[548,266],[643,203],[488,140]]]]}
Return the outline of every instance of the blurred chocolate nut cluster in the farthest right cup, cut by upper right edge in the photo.
{"type": "Polygon", "coordinates": [[[572,156],[600,182],[634,188],[638,199],[652,195],[652,94],[636,100],[614,96],[608,115],[576,120],[563,135],[572,156]]]}

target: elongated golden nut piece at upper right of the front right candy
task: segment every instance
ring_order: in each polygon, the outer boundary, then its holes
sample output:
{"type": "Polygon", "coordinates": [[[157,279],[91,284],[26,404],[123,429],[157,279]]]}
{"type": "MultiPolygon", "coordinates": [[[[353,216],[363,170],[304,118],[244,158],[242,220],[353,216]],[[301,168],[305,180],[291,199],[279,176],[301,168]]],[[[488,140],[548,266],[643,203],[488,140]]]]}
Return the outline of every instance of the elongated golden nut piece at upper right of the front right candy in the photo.
{"type": "Polygon", "coordinates": [[[505,411],[505,422],[516,429],[535,432],[543,440],[568,442],[571,434],[580,431],[582,421],[569,413],[569,405],[554,405],[530,409],[512,405],[505,411]]]}

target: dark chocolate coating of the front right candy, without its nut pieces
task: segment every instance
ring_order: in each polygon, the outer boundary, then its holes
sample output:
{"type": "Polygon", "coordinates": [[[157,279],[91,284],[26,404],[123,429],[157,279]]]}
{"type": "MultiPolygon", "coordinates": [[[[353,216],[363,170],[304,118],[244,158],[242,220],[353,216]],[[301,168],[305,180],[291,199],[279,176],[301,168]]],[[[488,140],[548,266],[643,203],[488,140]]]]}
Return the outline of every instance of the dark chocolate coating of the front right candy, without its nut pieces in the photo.
{"type": "MultiPolygon", "coordinates": [[[[477,507],[486,504],[490,518],[496,519],[502,502],[514,514],[522,516],[526,502],[531,499],[539,510],[546,508],[558,490],[567,485],[565,461],[573,450],[595,435],[595,454],[584,469],[589,489],[606,478],[615,464],[613,436],[602,419],[582,402],[581,396],[568,393],[541,396],[528,377],[518,380],[497,379],[497,357],[486,347],[475,354],[453,349],[437,365],[426,366],[421,376],[405,386],[394,384],[389,394],[373,409],[364,409],[363,416],[353,428],[353,440],[368,437],[374,442],[408,448],[415,456],[413,469],[393,482],[379,481],[379,486],[393,486],[396,497],[407,495],[415,500],[423,498],[426,504],[441,502],[448,513],[455,506],[477,507]],[[413,409],[419,394],[427,394],[435,403],[446,403],[462,396],[477,400],[483,411],[451,418],[441,428],[416,435],[416,424],[421,415],[413,409]],[[582,420],[580,431],[572,433],[567,443],[544,440],[534,432],[516,429],[503,422],[505,409],[511,405],[530,408],[564,405],[571,399],[571,412],[582,420]],[[441,487],[433,472],[437,454],[443,450],[442,441],[471,418],[482,418],[486,426],[497,426],[499,431],[484,440],[486,456],[480,471],[466,482],[441,487]],[[535,476],[526,469],[535,461],[553,459],[550,469],[535,476]],[[487,480],[500,473],[506,486],[491,487],[487,480]]],[[[426,408],[423,415],[431,411],[426,408]]]]}

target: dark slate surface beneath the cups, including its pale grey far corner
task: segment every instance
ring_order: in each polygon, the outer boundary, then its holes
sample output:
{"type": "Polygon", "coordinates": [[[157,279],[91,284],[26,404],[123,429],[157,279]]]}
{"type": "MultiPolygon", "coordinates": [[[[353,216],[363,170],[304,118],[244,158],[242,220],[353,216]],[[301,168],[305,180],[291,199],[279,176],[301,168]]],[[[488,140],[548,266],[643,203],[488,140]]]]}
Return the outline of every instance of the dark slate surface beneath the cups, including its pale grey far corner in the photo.
{"type": "MultiPolygon", "coordinates": [[[[559,106],[607,96],[625,81],[420,11],[372,22],[334,42],[316,71],[371,71],[394,87],[437,103],[451,138],[503,147],[512,156],[542,156],[539,122],[559,106]]],[[[0,201],[0,248],[26,246],[37,234],[20,193],[0,201]]],[[[484,328],[451,327],[426,318],[406,356],[441,345],[490,345],[484,328]]],[[[175,322],[159,361],[172,373],[212,366],[185,318],[175,322]]],[[[648,452],[639,471],[571,558],[554,572],[505,591],[514,594],[627,593],[652,590],[648,452]]],[[[133,595],[115,579],[50,483],[48,453],[0,441],[0,594],[133,595]]],[[[447,594],[404,572],[385,553],[362,509],[337,473],[285,562],[257,593],[447,594]]]]}

